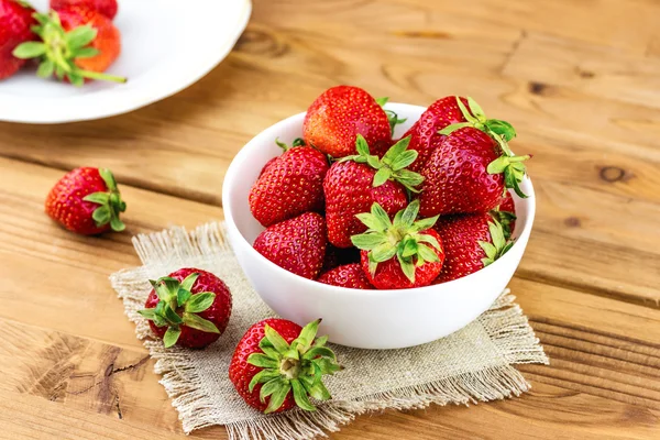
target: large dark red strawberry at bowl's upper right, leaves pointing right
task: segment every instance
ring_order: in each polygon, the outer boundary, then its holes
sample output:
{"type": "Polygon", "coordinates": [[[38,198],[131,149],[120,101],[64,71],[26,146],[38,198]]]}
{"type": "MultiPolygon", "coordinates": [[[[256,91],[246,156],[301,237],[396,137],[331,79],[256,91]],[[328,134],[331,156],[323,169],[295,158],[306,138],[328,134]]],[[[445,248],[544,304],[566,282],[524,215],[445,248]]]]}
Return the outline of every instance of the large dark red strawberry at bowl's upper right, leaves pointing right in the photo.
{"type": "Polygon", "coordinates": [[[486,119],[472,98],[468,101],[470,110],[457,98],[468,122],[440,131],[447,138],[421,170],[422,216],[487,212],[499,204],[505,188],[526,197],[519,183],[525,176],[522,162],[530,156],[513,155],[507,144],[515,136],[513,127],[486,119]]]}

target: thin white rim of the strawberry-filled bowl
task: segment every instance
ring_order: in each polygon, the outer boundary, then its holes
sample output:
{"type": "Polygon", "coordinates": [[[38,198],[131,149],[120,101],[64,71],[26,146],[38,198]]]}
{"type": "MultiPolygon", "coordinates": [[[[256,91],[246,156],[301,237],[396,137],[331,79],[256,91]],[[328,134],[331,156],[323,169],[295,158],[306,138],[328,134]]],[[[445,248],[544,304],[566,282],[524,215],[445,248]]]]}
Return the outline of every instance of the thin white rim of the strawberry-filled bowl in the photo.
{"type": "MultiPolygon", "coordinates": [[[[385,108],[388,110],[395,110],[395,111],[397,109],[399,111],[402,111],[405,108],[415,109],[417,111],[419,111],[419,110],[424,111],[427,109],[424,106],[416,106],[416,105],[402,103],[402,102],[387,102],[385,105],[385,108]]],[[[514,242],[514,245],[512,246],[512,249],[506,254],[504,254],[503,256],[497,258],[495,262],[493,262],[488,266],[483,267],[472,274],[469,274],[463,277],[452,279],[452,280],[449,280],[446,283],[431,284],[431,285],[421,286],[421,287],[403,288],[403,289],[375,289],[375,288],[374,289],[358,289],[358,288],[352,288],[352,287],[332,286],[329,284],[319,283],[316,279],[305,278],[300,275],[290,273],[283,267],[279,267],[277,264],[273,263],[272,261],[270,261],[268,258],[266,258],[265,256],[260,254],[252,246],[252,243],[250,243],[248,241],[248,239],[245,239],[245,237],[243,235],[243,233],[241,232],[241,230],[239,229],[239,227],[237,226],[237,223],[233,219],[232,207],[231,207],[231,204],[229,202],[229,200],[231,200],[231,198],[229,197],[229,195],[231,193],[231,188],[233,187],[233,182],[234,182],[235,177],[238,176],[238,166],[239,166],[238,164],[245,160],[245,157],[248,156],[249,152],[252,148],[256,148],[257,145],[262,144],[262,138],[268,138],[268,139],[272,138],[271,139],[271,141],[272,141],[273,139],[275,139],[274,136],[272,136],[272,134],[271,134],[272,132],[280,130],[283,127],[288,125],[290,123],[298,123],[297,121],[299,119],[304,119],[305,114],[306,114],[305,111],[300,112],[300,113],[296,113],[296,114],[293,114],[288,118],[285,118],[280,121],[267,127],[266,129],[261,131],[258,134],[256,134],[254,138],[252,138],[250,141],[248,141],[248,143],[245,143],[245,145],[243,145],[241,147],[241,150],[237,153],[237,155],[231,161],[231,163],[227,169],[227,173],[224,175],[224,179],[223,179],[223,184],[222,184],[222,211],[224,213],[224,222],[227,223],[227,228],[233,228],[237,230],[238,235],[240,237],[240,240],[242,240],[243,243],[246,244],[246,246],[250,249],[250,251],[248,251],[248,252],[251,253],[251,256],[253,256],[262,262],[265,262],[267,265],[271,265],[272,267],[274,267],[275,271],[280,271],[283,276],[295,277],[298,282],[301,282],[304,284],[307,283],[308,286],[310,287],[309,290],[316,293],[317,289],[328,289],[328,290],[332,290],[333,295],[342,295],[342,296],[354,296],[354,295],[374,296],[374,295],[377,295],[381,297],[399,296],[402,294],[426,295],[426,294],[430,294],[430,293],[437,293],[437,290],[444,289],[444,288],[451,288],[452,286],[457,286],[460,283],[470,283],[470,280],[474,279],[476,276],[483,277],[483,276],[488,276],[488,274],[491,274],[491,273],[495,273],[499,267],[502,267],[503,264],[505,264],[504,263],[505,261],[508,261],[514,257],[510,251],[515,248],[520,246],[520,244],[518,243],[520,241],[520,238],[522,238],[524,235],[529,235],[531,233],[531,228],[532,228],[534,220],[536,217],[536,193],[535,193],[534,184],[532,184],[531,179],[529,178],[528,175],[526,175],[525,179],[524,179],[524,184],[525,184],[525,187],[526,187],[525,189],[527,190],[528,197],[527,197],[527,199],[525,199],[527,201],[527,216],[526,216],[525,227],[518,234],[518,238],[514,242]]],[[[301,125],[301,122],[302,121],[300,121],[300,125],[301,125]]],[[[263,164],[257,165],[257,166],[263,166],[263,164]]],[[[517,268],[518,264],[516,264],[516,268],[517,268]]],[[[310,295],[314,295],[311,292],[310,292],[310,295]]]]}

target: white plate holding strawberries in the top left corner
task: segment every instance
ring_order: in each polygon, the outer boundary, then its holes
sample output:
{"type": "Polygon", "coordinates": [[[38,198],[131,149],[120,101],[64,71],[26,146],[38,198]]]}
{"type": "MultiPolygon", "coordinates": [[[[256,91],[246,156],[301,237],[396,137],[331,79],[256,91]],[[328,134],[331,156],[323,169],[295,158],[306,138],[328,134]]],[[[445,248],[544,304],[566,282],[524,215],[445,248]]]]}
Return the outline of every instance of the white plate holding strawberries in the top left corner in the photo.
{"type": "MultiPolygon", "coordinates": [[[[31,0],[38,11],[47,0],[31,0]]],[[[26,68],[0,81],[0,120],[59,123],[107,118],[167,98],[218,65],[245,29],[250,0],[119,0],[122,53],[108,70],[127,84],[76,88],[26,68]]]]}

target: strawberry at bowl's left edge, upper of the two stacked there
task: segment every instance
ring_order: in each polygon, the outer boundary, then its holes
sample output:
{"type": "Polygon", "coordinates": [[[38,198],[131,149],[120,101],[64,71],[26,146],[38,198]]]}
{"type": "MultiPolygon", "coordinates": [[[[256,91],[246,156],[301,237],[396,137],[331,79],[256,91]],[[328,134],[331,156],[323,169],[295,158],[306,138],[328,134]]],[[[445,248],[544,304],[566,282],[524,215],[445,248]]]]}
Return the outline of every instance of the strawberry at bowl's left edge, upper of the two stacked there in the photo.
{"type": "Polygon", "coordinates": [[[326,155],[311,146],[289,148],[276,141],[284,154],[266,163],[250,189],[250,210],[264,227],[307,211],[323,210],[326,155]]]}

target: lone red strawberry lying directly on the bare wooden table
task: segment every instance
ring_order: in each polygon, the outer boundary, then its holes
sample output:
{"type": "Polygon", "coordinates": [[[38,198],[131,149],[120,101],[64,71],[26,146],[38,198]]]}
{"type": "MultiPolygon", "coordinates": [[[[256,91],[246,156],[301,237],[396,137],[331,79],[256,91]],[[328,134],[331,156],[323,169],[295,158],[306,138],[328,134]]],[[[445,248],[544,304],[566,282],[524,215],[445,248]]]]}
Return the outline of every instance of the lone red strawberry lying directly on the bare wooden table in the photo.
{"type": "Polygon", "coordinates": [[[127,210],[117,182],[107,168],[76,168],[64,175],[46,197],[46,213],[69,231],[82,235],[123,231],[119,219],[127,210]]]}

